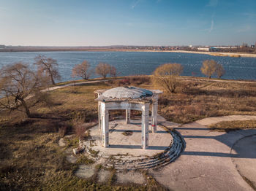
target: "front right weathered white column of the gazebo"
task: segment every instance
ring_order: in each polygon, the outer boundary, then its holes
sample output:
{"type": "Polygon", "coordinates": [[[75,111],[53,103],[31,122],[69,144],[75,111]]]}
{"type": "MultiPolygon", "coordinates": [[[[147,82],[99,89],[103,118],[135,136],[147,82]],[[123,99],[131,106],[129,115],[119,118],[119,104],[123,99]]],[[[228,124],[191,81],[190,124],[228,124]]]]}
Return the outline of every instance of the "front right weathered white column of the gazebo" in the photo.
{"type": "Polygon", "coordinates": [[[149,112],[149,103],[145,103],[142,106],[142,121],[141,121],[141,141],[142,148],[148,148],[148,112],[149,112]]]}

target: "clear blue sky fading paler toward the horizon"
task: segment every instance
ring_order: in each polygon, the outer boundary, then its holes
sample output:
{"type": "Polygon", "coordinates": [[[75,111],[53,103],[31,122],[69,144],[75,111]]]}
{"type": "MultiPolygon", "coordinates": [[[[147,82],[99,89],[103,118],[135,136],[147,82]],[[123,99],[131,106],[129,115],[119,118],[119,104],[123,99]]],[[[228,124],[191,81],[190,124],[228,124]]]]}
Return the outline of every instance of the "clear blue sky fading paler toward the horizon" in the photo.
{"type": "Polygon", "coordinates": [[[0,0],[0,44],[239,45],[256,42],[255,0],[0,0]]]}

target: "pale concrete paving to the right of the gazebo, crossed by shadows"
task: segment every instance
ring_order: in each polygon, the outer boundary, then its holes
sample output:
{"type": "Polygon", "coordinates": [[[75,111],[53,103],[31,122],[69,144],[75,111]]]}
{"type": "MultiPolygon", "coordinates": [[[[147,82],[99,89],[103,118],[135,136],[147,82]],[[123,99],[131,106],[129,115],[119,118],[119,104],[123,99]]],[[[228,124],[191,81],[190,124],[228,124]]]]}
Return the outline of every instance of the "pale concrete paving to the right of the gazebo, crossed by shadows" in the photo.
{"type": "Polygon", "coordinates": [[[256,129],[225,133],[206,127],[223,120],[256,120],[256,116],[209,117],[187,125],[162,121],[162,125],[181,133],[186,146],[174,163],[150,173],[170,190],[253,190],[242,176],[256,182],[256,144],[252,136],[256,129]]]}

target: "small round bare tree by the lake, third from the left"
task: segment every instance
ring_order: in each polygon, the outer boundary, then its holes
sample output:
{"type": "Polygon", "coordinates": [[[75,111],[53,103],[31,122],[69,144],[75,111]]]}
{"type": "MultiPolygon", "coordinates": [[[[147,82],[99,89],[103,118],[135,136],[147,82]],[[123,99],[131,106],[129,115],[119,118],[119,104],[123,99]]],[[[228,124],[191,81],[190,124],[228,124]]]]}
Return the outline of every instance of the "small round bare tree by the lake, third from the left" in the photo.
{"type": "Polygon", "coordinates": [[[82,77],[83,79],[89,79],[92,71],[89,71],[90,63],[83,61],[83,63],[77,64],[72,69],[72,77],[82,77]]]}

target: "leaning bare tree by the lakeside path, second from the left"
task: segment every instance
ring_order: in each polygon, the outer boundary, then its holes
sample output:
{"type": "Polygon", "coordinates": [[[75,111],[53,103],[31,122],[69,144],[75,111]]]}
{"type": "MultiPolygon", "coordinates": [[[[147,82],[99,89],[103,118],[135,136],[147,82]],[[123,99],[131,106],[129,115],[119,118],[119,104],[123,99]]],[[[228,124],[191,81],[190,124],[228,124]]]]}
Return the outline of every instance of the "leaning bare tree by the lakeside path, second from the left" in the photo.
{"type": "Polygon", "coordinates": [[[38,55],[35,59],[35,65],[37,65],[37,71],[39,73],[45,73],[49,77],[50,82],[55,85],[55,79],[61,79],[58,71],[58,63],[53,58],[46,58],[44,55],[38,55]]]}

